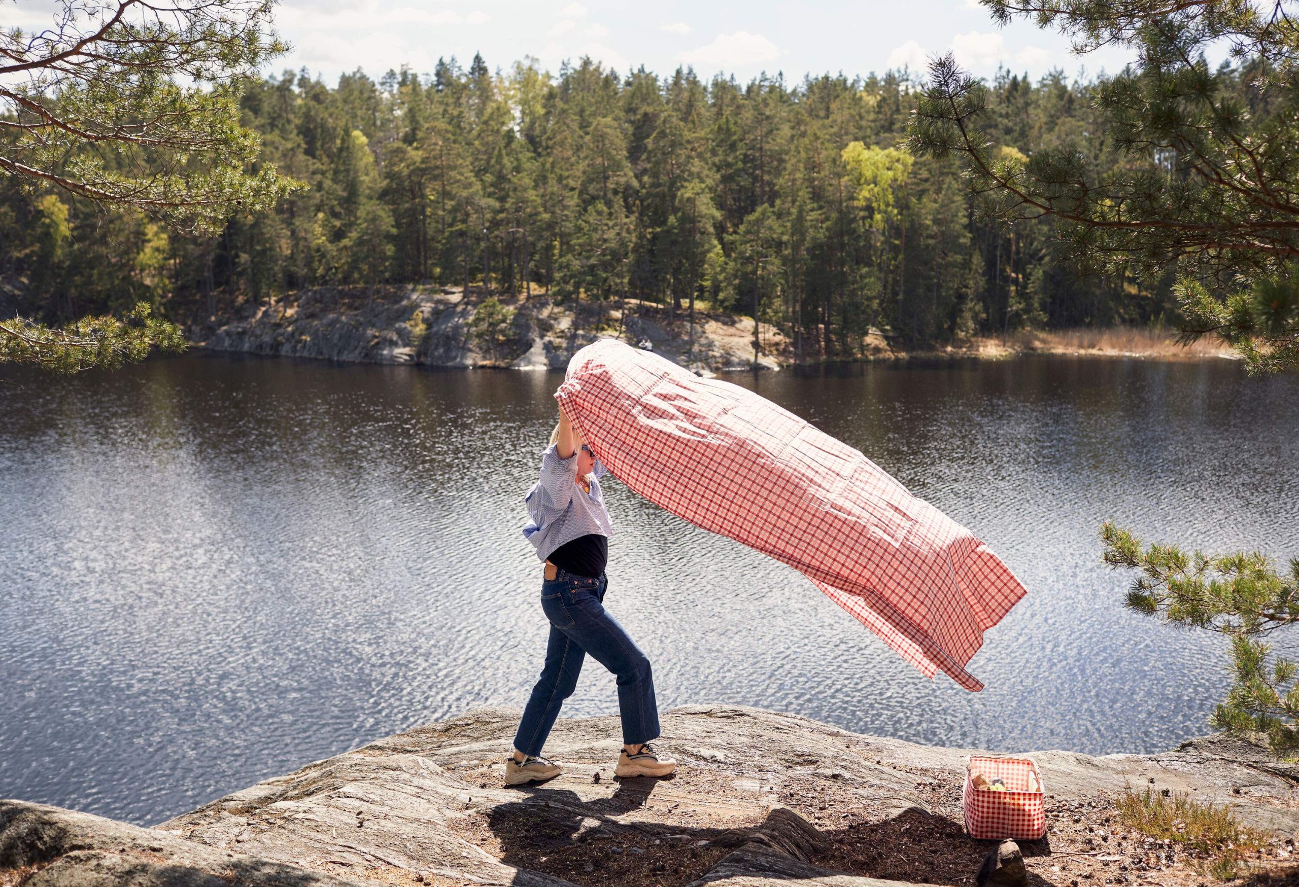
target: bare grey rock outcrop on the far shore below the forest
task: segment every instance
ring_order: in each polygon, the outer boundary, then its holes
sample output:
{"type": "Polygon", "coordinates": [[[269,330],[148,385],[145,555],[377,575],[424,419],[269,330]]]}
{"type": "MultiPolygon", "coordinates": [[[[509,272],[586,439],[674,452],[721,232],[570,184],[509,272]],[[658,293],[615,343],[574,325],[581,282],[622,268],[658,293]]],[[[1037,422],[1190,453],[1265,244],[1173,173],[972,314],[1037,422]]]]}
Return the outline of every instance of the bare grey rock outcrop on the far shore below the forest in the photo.
{"type": "MultiPolygon", "coordinates": [[[[648,343],[670,360],[700,373],[750,369],[753,323],[698,314],[691,344],[686,318],[629,305],[559,305],[546,296],[504,300],[505,317],[491,330],[474,326],[483,300],[453,288],[388,288],[368,297],[318,288],[279,301],[247,305],[240,316],[190,325],[195,344],[286,357],[429,366],[562,369],[582,345],[599,336],[648,343]]],[[[760,366],[774,369],[787,343],[763,326],[760,366]],[[774,355],[774,356],[773,356],[774,355]]]]}

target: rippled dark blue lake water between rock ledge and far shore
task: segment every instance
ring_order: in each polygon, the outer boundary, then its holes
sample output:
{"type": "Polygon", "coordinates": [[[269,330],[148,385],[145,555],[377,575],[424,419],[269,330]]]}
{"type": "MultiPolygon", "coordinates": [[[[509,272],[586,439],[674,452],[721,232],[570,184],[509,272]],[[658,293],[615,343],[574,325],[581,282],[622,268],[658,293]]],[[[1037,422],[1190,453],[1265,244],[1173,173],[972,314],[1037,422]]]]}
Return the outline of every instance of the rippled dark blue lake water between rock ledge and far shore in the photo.
{"type": "MultiPolygon", "coordinates": [[[[0,382],[0,796],[157,822],[477,705],[547,631],[522,496],[560,374],[194,355],[0,382]]],[[[1020,358],[730,381],[863,449],[1029,588],[968,693],[798,573],[607,487],[607,604],[660,705],[914,742],[1150,752],[1207,731],[1225,648],[1121,606],[1116,518],[1294,548],[1299,379],[1020,358]]],[[[614,713],[587,664],[569,714],[614,713]]]]}

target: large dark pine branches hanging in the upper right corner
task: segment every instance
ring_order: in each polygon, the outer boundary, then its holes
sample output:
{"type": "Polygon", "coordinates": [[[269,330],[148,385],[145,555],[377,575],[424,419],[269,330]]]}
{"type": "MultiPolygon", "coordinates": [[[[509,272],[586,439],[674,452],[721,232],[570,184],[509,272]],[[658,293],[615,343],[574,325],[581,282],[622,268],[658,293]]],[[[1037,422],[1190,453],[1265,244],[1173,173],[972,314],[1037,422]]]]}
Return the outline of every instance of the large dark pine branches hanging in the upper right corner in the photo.
{"type": "Polygon", "coordinates": [[[1299,29],[1286,8],[1196,0],[983,0],[1138,61],[1090,88],[1102,139],[1007,157],[985,83],[931,65],[908,144],[959,158],[989,218],[1053,219],[1068,255],[1115,275],[1176,273],[1183,342],[1220,335],[1254,371],[1296,365],[1299,29]],[[1204,51],[1230,45],[1211,69],[1204,51]]]}

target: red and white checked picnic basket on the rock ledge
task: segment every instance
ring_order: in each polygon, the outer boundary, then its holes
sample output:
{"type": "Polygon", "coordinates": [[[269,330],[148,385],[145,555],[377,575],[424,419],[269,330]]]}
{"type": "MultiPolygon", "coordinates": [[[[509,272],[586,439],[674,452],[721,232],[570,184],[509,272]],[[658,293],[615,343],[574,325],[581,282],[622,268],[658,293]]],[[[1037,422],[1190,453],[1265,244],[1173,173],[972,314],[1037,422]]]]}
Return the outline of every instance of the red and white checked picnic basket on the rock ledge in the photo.
{"type": "Polygon", "coordinates": [[[1042,779],[1037,765],[1028,758],[970,756],[965,764],[961,803],[970,838],[1037,840],[1047,834],[1042,779]],[[1005,791],[976,788],[976,773],[983,774],[989,782],[1000,779],[1005,791]]]}

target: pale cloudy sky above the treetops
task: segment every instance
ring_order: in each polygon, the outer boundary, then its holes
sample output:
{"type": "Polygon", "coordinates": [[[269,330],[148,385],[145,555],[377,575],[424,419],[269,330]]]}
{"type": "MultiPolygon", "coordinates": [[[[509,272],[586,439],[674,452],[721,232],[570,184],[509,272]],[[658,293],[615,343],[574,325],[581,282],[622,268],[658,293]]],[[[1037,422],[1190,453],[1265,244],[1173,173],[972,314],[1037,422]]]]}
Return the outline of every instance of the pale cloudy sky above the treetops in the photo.
{"type": "Polygon", "coordinates": [[[429,73],[439,57],[468,66],[475,52],[494,70],[531,56],[553,73],[564,60],[591,56],[620,73],[692,66],[705,79],[781,71],[795,82],[826,71],[924,70],[929,56],[948,49],[981,77],[1005,65],[1034,79],[1060,68],[1073,79],[1126,61],[1116,49],[1072,55],[1066,38],[1029,22],[999,29],[976,0],[287,0],[275,21],[292,51],[270,73],[307,68],[327,83],[357,68],[374,78],[403,64],[429,73]]]}

